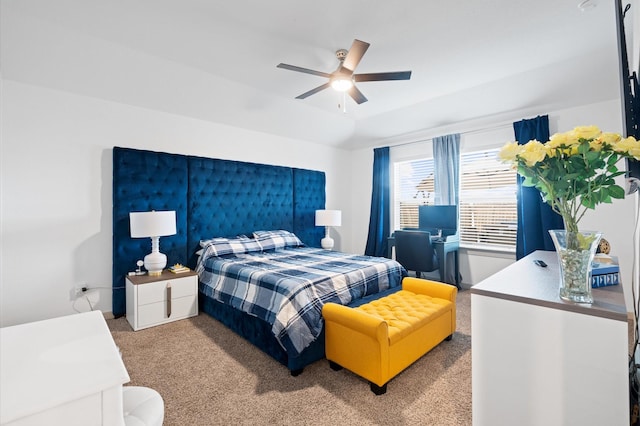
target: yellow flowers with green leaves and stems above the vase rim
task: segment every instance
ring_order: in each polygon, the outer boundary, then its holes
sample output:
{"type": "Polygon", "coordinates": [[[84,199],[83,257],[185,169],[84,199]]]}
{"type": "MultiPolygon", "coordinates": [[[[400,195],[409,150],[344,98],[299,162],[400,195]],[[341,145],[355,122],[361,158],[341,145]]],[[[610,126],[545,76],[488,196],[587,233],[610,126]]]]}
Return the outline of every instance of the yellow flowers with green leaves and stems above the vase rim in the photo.
{"type": "Polygon", "coordinates": [[[556,133],[545,143],[509,142],[499,157],[525,178],[523,185],[540,190],[544,201],[562,216],[567,231],[577,232],[587,209],[624,198],[615,178],[625,172],[616,163],[624,157],[640,160],[640,141],[582,126],[556,133]]]}

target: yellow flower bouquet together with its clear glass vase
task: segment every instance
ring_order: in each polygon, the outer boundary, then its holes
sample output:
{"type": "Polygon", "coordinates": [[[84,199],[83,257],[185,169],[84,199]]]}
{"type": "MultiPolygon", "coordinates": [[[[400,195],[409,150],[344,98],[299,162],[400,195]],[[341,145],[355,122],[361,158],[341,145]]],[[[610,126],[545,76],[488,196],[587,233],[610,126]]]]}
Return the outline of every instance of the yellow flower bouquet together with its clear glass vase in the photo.
{"type": "Polygon", "coordinates": [[[524,177],[524,186],[536,187],[562,216],[565,230],[549,230],[560,266],[560,297],[592,303],[591,262],[602,234],[580,232],[578,222],[588,209],[624,198],[624,189],[615,178],[625,172],[616,164],[622,158],[640,160],[640,142],[584,126],[557,133],[545,143],[509,142],[499,157],[524,177]]]}

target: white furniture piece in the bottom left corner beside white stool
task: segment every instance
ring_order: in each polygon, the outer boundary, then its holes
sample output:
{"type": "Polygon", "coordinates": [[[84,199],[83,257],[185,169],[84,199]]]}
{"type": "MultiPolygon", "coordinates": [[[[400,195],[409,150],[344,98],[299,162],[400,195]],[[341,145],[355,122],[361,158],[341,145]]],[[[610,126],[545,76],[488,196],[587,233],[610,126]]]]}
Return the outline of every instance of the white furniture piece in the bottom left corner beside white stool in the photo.
{"type": "Polygon", "coordinates": [[[99,311],[0,329],[2,425],[122,425],[127,382],[99,311]]]}

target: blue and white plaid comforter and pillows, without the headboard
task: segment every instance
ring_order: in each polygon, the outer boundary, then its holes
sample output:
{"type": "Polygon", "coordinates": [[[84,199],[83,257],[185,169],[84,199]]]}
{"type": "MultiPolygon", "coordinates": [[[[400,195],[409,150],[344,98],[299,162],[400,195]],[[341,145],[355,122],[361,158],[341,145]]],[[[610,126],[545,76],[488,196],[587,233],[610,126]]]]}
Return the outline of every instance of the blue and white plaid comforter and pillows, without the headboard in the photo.
{"type": "Polygon", "coordinates": [[[324,356],[323,345],[313,344],[324,340],[325,303],[352,305],[380,297],[399,288],[406,275],[390,259],[305,247],[286,230],[202,245],[196,270],[203,310],[219,317],[211,307],[223,304],[262,322],[275,339],[266,346],[275,349],[270,354],[286,361],[293,374],[324,356]]]}

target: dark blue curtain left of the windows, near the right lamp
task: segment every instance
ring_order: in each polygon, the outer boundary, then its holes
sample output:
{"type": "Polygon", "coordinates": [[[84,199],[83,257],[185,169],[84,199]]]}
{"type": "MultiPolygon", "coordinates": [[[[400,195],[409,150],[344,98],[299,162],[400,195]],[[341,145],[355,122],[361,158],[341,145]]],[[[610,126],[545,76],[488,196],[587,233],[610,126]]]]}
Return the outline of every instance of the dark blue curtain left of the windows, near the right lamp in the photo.
{"type": "Polygon", "coordinates": [[[369,235],[364,254],[384,257],[387,255],[387,238],[390,235],[389,147],[373,150],[373,189],[369,235]]]}

